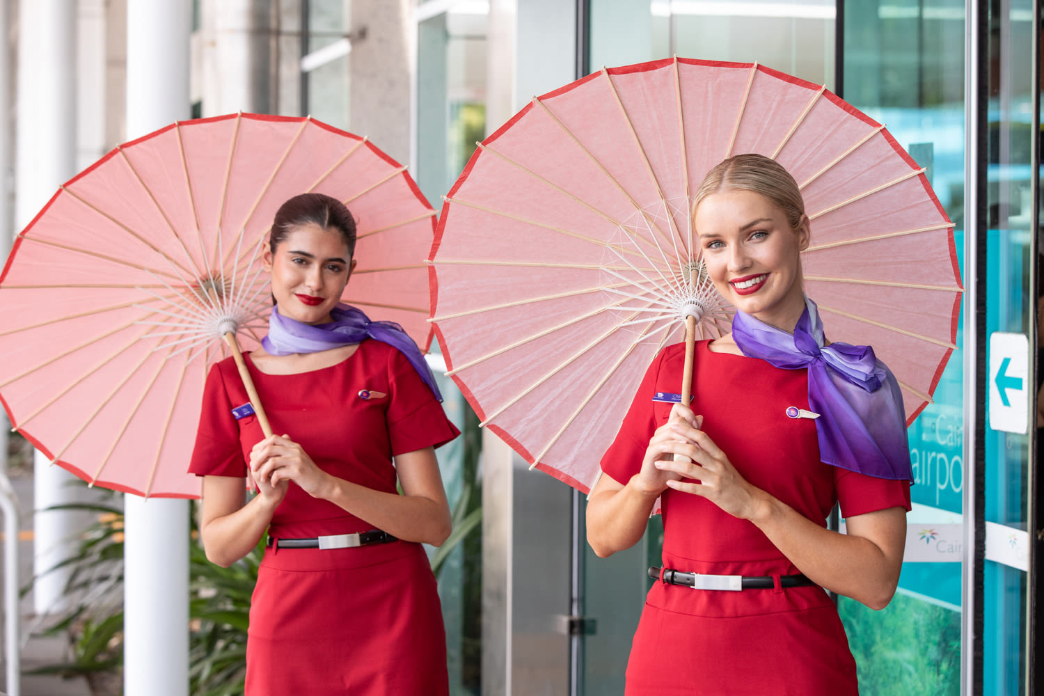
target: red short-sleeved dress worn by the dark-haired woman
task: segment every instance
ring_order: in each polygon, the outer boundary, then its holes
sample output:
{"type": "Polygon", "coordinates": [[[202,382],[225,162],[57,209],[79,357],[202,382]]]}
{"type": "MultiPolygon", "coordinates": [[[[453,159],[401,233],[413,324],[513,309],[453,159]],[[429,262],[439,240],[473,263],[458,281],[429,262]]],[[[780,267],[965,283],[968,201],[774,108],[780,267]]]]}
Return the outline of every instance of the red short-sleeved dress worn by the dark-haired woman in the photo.
{"type": "MultiPolygon", "coordinates": [[[[396,349],[365,340],[340,363],[298,375],[247,366],[276,433],[288,434],[324,471],[396,491],[393,456],[440,446],[458,433],[431,390],[396,349]]],[[[189,471],[246,474],[263,438],[232,359],[207,378],[189,471]]],[[[269,534],[303,538],[373,525],[290,482],[269,534]]],[[[246,696],[448,694],[446,631],[420,544],[351,549],[268,549],[251,603],[246,696]]]]}

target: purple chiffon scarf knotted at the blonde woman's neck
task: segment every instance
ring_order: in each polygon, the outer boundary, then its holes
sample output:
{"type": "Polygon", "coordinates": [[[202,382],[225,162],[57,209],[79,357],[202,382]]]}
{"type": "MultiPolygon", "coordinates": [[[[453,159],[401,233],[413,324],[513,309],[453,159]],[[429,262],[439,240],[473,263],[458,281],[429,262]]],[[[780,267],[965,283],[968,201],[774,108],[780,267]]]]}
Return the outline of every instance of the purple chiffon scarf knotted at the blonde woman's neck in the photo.
{"type": "Polygon", "coordinates": [[[823,321],[808,297],[793,335],[736,312],[732,335],[751,358],[808,368],[808,407],[823,461],[868,476],[911,481],[906,416],[895,376],[869,345],[824,346],[823,321]]]}

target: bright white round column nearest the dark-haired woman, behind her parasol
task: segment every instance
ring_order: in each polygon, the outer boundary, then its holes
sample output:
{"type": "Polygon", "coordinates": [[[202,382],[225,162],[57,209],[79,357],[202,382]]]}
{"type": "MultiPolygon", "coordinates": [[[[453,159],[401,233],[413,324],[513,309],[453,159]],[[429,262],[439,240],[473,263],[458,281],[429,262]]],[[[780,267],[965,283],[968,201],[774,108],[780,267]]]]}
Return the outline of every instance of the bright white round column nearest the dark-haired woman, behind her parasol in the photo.
{"type": "MultiPolygon", "coordinates": [[[[128,139],[189,117],[191,19],[189,0],[127,0],[128,139]]],[[[188,509],[184,500],[124,500],[126,696],[188,694],[188,509]]]]}

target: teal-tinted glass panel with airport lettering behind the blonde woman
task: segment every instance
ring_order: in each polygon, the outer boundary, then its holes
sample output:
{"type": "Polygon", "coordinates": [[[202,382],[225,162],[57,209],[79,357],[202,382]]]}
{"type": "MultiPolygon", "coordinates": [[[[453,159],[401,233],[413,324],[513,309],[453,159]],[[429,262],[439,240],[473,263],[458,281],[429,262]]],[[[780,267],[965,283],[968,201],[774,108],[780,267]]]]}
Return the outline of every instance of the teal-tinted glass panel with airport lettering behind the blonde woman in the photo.
{"type": "MultiPolygon", "coordinates": [[[[964,0],[845,3],[844,97],[885,123],[925,168],[964,249],[964,0]]],[[[915,485],[908,530],[926,557],[962,543],[965,486],[962,335],[929,405],[908,431],[915,485]],[[947,525],[954,525],[949,527],[947,525]],[[951,538],[952,537],[952,538],[951,538]]],[[[954,558],[950,555],[947,560],[954,558]]],[[[960,563],[906,562],[883,611],[840,598],[862,694],[960,693],[960,563]],[[903,675],[897,682],[897,675],[903,675]]]]}

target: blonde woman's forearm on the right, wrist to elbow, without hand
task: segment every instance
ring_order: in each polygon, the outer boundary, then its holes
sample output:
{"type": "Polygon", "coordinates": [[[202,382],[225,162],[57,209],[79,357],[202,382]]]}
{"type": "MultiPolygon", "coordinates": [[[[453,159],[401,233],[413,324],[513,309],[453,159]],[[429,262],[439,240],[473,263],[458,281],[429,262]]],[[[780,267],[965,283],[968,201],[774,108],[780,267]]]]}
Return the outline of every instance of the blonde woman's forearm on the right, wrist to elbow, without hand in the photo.
{"type": "Polygon", "coordinates": [[[892,600],[901,547],[897,558],[870,538],[825,529],[767,494],[751,522],[816,584],[874,609],[892,600]]]}

